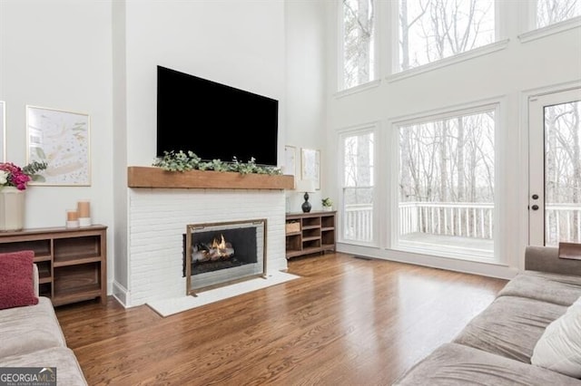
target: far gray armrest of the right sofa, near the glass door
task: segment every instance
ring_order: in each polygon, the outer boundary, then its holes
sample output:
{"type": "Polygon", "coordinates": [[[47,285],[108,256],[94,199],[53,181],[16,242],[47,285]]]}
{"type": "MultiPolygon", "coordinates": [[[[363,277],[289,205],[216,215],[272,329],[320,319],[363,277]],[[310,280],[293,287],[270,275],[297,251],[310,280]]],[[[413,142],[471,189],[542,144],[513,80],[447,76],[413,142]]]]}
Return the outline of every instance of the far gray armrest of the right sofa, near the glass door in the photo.
{"type": "Polygon", "coordinates": [[[581,260],[559,258],[557,247],[527,246],[525,269],[549,274],[581,276],[581,260]]]}

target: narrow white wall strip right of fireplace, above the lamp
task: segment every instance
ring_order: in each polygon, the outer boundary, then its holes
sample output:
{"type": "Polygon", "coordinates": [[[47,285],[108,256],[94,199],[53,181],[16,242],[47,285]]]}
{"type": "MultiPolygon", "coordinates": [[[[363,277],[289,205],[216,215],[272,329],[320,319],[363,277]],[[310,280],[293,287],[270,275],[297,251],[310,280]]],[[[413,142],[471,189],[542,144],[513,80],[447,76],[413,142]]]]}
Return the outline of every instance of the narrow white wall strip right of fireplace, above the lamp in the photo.
{"type": "MultiPolygon", "coordinates": [[[[320,210],[320,198],[331,196],[327,186],[329,163],[325,157],[326,126],[326,23],[322,1],[285,2],[286,20],[286,141],[295,147],[296,179],[300,179],[300,148],[321,150],[321,189],[310,195],[312,210],[320,210]]],[[[287,210],[300,212],[304,192],[287,192],[287,210]]]]}

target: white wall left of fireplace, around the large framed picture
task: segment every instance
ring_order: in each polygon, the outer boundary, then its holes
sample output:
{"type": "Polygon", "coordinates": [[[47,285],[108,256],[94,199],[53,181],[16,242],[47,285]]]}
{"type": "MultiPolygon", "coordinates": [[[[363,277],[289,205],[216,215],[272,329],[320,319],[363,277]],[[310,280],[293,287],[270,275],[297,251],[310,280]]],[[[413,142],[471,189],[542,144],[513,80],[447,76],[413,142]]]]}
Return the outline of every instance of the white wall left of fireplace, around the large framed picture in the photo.
{"type": "MultiPolygon", "coordinates": [[[[6,102],[6,160],[26,163],[27,104],[90,115],[90,187],[31,186],[25,227],[63,227],[65,209],[91,200],[94,223],[113,224],[111,3],[0,2],[0,101],[6,102]]],[[[113,227],[108,231],[113,262],[113,227]]],[[[109,281],[113,269],[108,272],[109,281]]]]}

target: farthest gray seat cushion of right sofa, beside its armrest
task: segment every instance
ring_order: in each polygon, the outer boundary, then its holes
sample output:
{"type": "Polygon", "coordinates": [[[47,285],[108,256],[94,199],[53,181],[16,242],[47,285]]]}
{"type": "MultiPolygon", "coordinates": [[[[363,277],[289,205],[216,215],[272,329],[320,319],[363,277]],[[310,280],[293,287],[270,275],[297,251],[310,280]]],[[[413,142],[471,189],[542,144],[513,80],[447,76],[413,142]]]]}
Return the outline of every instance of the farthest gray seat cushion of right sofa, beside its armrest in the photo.
{"type": "Polygon", "coordinates": [[[581,296],[581,276],[525,271],[509,281],[498,296],[521,296],[571,305],[581,296]]]}

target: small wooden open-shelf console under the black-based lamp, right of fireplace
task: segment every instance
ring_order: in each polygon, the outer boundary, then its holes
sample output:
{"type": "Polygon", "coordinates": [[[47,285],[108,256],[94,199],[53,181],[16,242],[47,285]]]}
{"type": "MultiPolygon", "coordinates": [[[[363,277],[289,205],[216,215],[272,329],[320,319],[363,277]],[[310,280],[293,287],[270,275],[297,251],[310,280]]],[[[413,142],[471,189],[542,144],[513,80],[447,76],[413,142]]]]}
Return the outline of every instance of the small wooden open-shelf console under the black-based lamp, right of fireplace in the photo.
{"type": "Polygon", "coordinates": [[[286,217],[287,259],[334,251],[336,211],[290,213],[286,217]]]}

